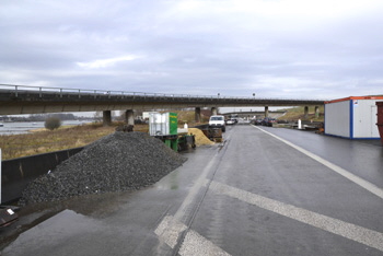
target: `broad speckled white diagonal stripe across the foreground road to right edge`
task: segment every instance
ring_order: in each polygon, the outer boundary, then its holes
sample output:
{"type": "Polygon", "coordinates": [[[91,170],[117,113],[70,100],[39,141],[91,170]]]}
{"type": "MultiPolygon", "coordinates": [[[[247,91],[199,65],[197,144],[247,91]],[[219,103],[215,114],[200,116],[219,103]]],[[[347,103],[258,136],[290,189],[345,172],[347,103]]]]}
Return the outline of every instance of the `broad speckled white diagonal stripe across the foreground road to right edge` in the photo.
{"type": "Polygon", "coordinates": [[[258,196],[225,184],[212,182],[209,188],[217,194],[236,198],[241,201],[257,206],[383,252],[383,233],[378,231],[369,230],[338,219],[258,196]]]}

